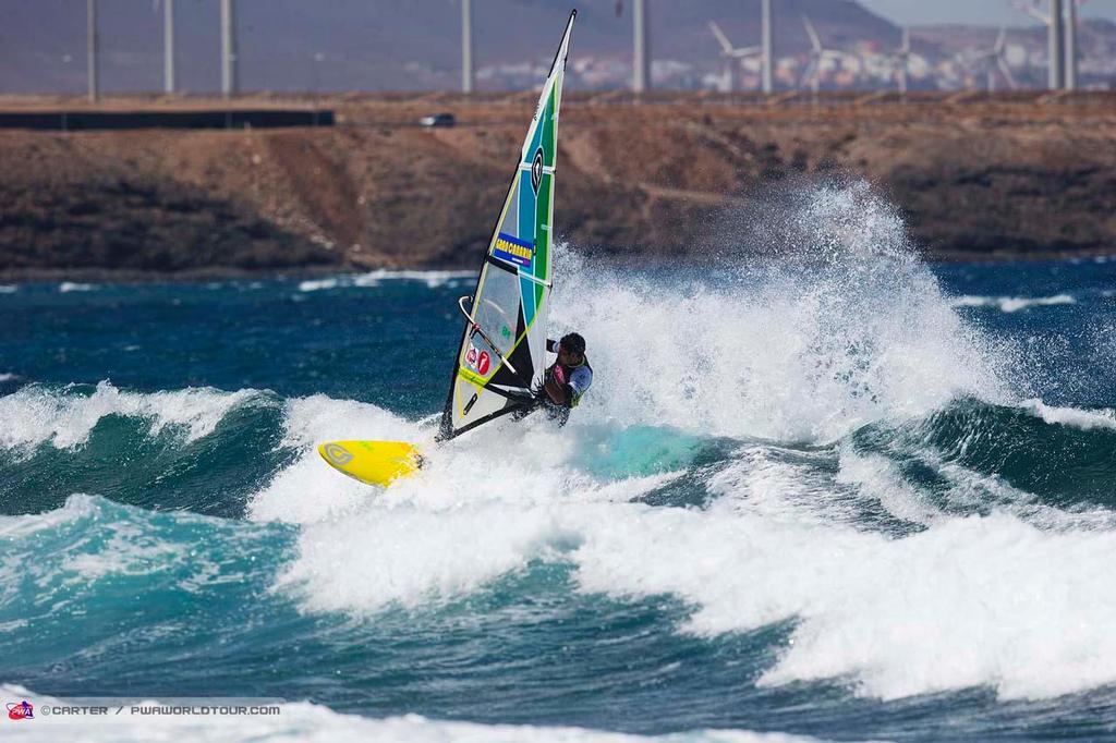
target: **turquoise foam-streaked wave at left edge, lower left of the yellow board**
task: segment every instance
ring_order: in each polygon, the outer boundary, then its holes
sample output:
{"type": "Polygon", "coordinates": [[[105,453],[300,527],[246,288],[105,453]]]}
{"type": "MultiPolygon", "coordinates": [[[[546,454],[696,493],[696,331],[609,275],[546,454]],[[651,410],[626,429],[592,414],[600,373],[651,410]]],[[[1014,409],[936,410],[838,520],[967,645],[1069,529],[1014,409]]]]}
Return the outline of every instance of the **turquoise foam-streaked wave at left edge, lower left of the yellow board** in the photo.
{"type": "MultiPolygon", "coordinates": [[[[65,633],[73,616],[96,614],[105,624],[83,640],[90,654],[103,644],[96,652],[106,654],[106,663],[119,659],[113,655],[115,643],[126,645],[133,633],[150,636],[158,629],[158,617],[134,615],[141,596],[157,605],[199,595],[214,602],[210,616],[220,626],[214,629],[235,627],[225,612],[238,610],[242,594],[260,590],[290,540],[281,527],[161,513],[85,494],[44,513],[2,515],[0,535],[4,616],[35,607],[40,629],[65,633]]],[[[28,641],[33,636],[9,637],[12,645],[28,641]]]]}

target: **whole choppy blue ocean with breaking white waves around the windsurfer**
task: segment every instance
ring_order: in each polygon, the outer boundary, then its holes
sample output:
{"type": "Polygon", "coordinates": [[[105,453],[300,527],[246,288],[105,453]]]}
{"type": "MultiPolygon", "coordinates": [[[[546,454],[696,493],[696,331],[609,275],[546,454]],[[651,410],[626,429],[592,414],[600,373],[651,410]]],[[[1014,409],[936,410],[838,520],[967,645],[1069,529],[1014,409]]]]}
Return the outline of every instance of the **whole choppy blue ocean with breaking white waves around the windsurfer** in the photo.
{"type": "Polygon", "coordinates": [[[440,448],[469,276],[0,287],[4,693],[1110,740],[1116,263],[929,266],[827,197],[857,218],[808,214],[807,260],[567,248],[590,396],[440,448]],[[429,463],[365,488],[314,452],[343,437],[429,463]]]}

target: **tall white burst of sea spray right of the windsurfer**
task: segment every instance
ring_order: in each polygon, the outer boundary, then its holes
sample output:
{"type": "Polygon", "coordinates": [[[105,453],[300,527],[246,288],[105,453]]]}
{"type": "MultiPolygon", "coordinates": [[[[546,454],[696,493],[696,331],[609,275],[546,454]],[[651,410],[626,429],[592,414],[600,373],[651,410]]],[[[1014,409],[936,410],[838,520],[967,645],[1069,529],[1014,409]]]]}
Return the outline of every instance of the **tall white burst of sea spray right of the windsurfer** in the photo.
{"type": "Polygon", "coordinates": [[[867,186],[818,187],[778,216],[778,255],[735,264],[744,251],[727,249],[684,282],[560,254],[551,317],[607,372],[579,417],[830,442],[959,395],[1010,396],[1010,349],[958,317],[867,186]]]}

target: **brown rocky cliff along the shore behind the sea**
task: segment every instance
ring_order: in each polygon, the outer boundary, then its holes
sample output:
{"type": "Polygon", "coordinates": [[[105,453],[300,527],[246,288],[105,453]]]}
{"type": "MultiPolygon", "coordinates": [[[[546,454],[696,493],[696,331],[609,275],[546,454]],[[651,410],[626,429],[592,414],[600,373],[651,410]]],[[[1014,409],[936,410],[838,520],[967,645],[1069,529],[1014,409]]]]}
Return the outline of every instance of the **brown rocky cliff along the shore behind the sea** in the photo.
{"type": "MultiPolygon", "coordinates": [[[[531,97],[338,99],[318,129],[7,131],[0,271],[473,266],[531,97]],[[434,110],[459,125],[415,126],[434,110]]],[[[1116,251],[1114,96],[573,97],[560,138],[558,233],[602,253],[700,259],[711,221],[834,176],[875,184],[932,255],[1116,251]]]]}

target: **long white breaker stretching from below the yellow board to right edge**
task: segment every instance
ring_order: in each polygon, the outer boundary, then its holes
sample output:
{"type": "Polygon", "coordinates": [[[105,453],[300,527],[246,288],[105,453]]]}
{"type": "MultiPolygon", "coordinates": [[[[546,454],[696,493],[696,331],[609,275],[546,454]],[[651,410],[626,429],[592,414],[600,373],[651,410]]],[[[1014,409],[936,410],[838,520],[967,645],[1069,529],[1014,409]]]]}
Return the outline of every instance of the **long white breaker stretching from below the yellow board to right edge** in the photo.
{"type": "Polygon", "coordinates": [[[460,475],[452,492],[401,484],[304,524],[277,590],[307,611],[371,619],[562,563],[585,595],[677,597],[693,607],[680,630],[711,640],[795,623],[761,685],[847,677],[884,699],[977,686],[1007,699],[1116,683],[1112,530],[943,513],[894,539],[741,511],[724,496],[706,510],[632,502],[662,486],[655,477],[604,493],[560,476],[547,488],[546,472],[492,462],[449,469],[460,475]]]}

